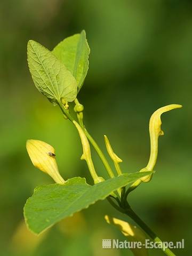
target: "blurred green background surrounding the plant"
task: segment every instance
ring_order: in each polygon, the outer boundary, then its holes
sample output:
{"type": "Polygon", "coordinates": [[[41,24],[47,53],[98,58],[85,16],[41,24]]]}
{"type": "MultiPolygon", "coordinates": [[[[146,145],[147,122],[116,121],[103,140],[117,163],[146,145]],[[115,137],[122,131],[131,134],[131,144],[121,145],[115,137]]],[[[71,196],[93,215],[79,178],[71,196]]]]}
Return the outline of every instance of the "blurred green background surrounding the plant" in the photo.
{"type": "MultiPolygon", "coordinates": [[[[92,182],[79,159],[82,148],[75,128],[36,90],[26,61],[29,39],[52,50],[85,29],[90,69],[78,98],[85,106],[87,128],[103,150],[103,134],[108,135],[124,172],[138,171],[148,162],[153,111],[170,103],[183,105],[162,116],[165,136],[159,139],[156,174],[130,195],[130,204],[164,241],[185,238],[185,250],[175,254],[191,255],[192,2],[4,0],[0,13],[0,254],[132,255],[126,249],[101,248],[102,239],[124,240],[104,215],[127,220],[107,201],[38,239],[22,222],[22,208],[33,189],[53,182],[31,164],[27,139],[53,145],[63,178],[81,175],[92,182]]],[[[93,157],[98,173],[107,178],[93,157]]],[[[150,255],[164,254],[150,250],[150,255]]]]}

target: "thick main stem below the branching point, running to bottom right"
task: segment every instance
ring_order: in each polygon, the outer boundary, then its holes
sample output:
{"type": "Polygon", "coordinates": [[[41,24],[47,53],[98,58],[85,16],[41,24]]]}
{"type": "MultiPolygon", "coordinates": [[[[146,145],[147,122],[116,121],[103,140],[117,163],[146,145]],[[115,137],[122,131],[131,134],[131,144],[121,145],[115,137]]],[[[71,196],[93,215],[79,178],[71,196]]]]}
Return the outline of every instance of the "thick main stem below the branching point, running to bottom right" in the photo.
{"type": "MultiPolygon", "coordinates": [[[[152,231],[145,222],[143,222],[140,217],[129,207],[129,209],[125,210],[125,214],[131,217],[132,220],[134,220],[142,229],[145,231],[145,233],[153,239],[154,242],[163,243],[162,240],[152,231]]],[[[162,249],[163,250],[163,249],[162,249]]],[[[163,250],[163,252],[168,256],[175,256],[175,254],[169,249],[166,248],[163,250]]]]}

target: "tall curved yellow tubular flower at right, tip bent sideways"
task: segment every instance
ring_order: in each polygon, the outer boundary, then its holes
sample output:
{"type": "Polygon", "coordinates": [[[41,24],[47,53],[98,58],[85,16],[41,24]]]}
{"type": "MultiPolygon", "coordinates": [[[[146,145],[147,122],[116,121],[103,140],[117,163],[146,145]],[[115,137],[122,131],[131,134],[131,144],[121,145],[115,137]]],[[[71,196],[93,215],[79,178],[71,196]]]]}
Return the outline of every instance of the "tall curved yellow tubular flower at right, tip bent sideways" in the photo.
{"type": "MultiPolygon", "coordinates": [[[[181,108],[182,105],[171,104],[165,107],[157,109],[153,115],[151,115],[149,121],[149,135],[150,135],[150,157],[147,166],[140,170],[140,172],[153,171],[154,166],[157,162],[158,154],[158,137],[164,135],[164,132],[161,130],[161,115],[167,111],[170,111],[175,108],[181,108]]],[[[150,181],[152,175],[147,175],[146,177],[141,178],[142,181],[150,181]]]]}

